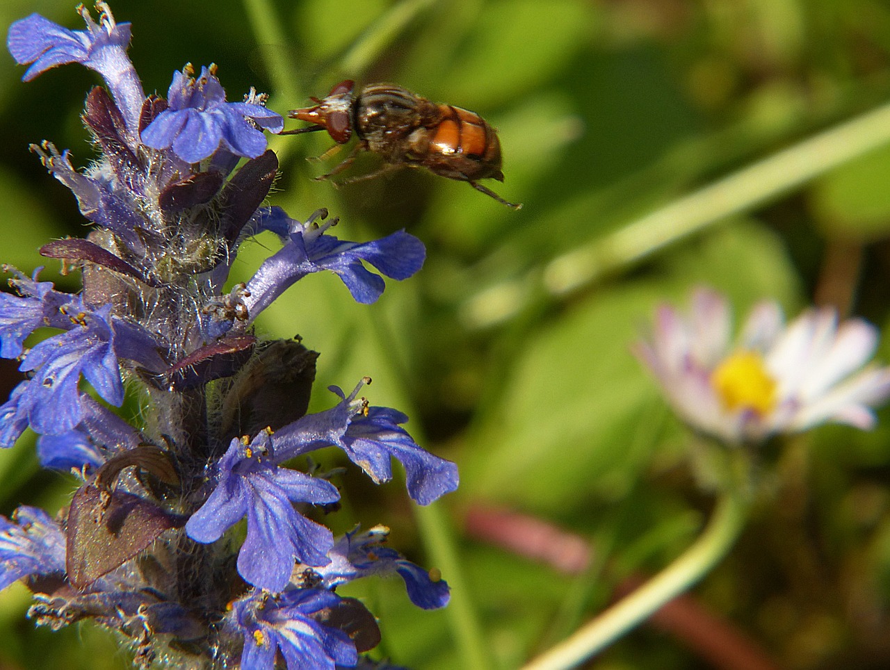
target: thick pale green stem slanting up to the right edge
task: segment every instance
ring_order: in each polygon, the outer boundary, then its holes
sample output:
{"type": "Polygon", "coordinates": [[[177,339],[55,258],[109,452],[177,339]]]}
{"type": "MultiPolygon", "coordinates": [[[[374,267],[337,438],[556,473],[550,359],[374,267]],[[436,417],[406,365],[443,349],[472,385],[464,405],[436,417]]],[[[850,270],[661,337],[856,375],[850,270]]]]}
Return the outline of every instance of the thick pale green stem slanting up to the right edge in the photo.
{"type": "Polygon", "coordinates": [[[890,104],[797,142],[550,262],[547,290],[593,283],[680,238],[747,211],[890,142],[890,104]]]}

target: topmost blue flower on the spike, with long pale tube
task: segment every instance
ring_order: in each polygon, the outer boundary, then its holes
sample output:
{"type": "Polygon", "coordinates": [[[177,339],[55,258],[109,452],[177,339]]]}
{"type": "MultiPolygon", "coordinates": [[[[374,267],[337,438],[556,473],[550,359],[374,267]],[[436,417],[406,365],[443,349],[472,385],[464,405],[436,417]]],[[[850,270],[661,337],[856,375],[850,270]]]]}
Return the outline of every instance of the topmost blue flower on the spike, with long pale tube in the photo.
{"type": "Polygon", "coordinates": [[[31,14],[10,26],[6,45],[16,62],[31,64],[21,77],[24,81],[67,63],[80,63],[98,72],[123,112],[127,128],[136,133],[145,93],[126,55],[130,24],[117,23],[104,2],[97,2],[96,9],[100,12],[98,24],[83,5],[78,9],[86,30],[62,28],[40,14],[31,14]]]}

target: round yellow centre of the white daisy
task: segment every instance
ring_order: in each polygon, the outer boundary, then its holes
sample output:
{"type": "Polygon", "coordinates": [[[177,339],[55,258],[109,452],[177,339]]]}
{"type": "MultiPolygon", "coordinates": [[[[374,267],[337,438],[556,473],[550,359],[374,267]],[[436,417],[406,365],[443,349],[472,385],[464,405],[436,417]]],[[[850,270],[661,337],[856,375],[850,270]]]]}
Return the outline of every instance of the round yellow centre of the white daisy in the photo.
{"type": "Polygon", "coordinates": [[[775,408],[776,383],[756,351],[727,356],[711,373],[711,384],[729,411],[750,409],[765,416],[775,408]]]}

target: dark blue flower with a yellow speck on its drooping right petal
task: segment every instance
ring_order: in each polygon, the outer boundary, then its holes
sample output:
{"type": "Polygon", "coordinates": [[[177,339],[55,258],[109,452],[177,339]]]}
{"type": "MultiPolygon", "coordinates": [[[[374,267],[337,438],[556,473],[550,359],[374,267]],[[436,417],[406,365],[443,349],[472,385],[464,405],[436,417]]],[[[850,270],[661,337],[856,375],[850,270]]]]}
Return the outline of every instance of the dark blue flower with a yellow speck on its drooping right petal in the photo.
{"type": "Polygon", "coordinates": [[[340,537],[328,552],[330,562],[319,568],[311,568],[321,578],[321,584],[334,589],[353,579],[369,575],[397,573],[404,581],[408,596],[417,607],[439,609],[448,604],[449,585],[438,573],[428,571],[412,563],[401,553],[384,546],[389,529],[376,526],[367,532],[358,529],[340,537]]]}

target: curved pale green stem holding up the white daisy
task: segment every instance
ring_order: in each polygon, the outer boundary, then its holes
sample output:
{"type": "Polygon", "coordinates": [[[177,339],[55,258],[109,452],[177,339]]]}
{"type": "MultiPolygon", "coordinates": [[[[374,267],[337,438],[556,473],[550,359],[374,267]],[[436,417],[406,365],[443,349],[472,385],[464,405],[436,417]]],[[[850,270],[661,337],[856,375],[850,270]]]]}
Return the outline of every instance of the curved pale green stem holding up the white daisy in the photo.
{"type": "Polygon", "coordinates": [[[737,493],[724,493],[708,528],[676,561],[522,670],[575,667],[605,649],[704,577],[732,548],[747,517],[748,500],[737,493]]]}

